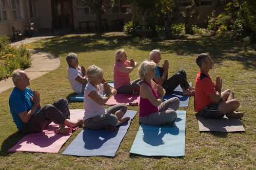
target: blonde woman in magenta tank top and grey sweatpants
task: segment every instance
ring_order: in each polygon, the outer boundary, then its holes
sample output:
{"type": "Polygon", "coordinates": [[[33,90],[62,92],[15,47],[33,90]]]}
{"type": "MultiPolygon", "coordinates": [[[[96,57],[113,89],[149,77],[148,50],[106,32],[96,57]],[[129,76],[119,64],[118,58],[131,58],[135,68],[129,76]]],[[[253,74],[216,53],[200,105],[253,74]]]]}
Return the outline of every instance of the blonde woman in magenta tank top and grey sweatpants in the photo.
{"type": "Polygon", "coordinates": [[[177,118],[179,100],[175,97],[162,102],[165,90],[152,81],[156,74],[155,67],[154,62],[145,60],[138,68],[138,75],[142,80],[138,119],[148,125],[173,125],[177,118]]]}

